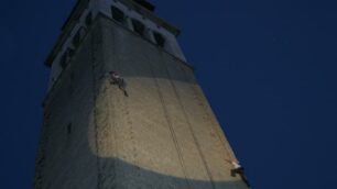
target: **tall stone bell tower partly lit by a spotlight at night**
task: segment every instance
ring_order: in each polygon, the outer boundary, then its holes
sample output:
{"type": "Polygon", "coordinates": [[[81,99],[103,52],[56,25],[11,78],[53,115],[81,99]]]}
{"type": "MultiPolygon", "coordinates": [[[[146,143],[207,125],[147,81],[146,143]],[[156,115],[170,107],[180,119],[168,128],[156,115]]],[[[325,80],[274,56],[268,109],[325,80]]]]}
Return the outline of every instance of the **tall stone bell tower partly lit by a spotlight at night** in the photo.
{"type": "Polygon", "coordinates": [[[51,68],[35,189],[244,189],[178,29],[145,0],[78,0],[51,68]],[[126,82],[128,97],[109,71],[126,82]]]}

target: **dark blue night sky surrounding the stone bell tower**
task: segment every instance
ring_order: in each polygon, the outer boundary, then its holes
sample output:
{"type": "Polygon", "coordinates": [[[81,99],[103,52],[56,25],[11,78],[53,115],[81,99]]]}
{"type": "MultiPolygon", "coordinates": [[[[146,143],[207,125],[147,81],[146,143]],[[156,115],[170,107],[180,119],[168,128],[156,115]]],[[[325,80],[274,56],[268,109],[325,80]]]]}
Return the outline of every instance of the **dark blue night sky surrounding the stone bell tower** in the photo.
{"type": "MultiPolygon", "coordinates": [[[[48,69],[76,0],[0,7],[1,189],[29,189],[48,69]]],[[[337,188],[337,1],[151,0],[254,189],[337,188]]]]}

